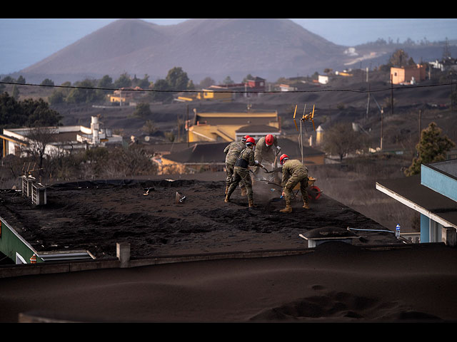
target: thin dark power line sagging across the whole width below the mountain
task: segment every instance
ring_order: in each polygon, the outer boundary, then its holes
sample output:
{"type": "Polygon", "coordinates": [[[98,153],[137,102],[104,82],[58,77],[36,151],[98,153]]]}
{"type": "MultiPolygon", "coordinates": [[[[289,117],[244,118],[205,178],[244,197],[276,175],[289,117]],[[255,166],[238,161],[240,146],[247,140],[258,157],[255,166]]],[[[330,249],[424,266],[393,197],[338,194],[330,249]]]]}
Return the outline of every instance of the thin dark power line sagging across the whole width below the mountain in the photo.
{"type": "Polygon", "coordinates": [[[89,89],[89,90],[122,90],[122,91],[141,91],[141,92],[155,92],[155,93],[204,93],[212,91],[214,93],[323,93],[323,92],[349,92],[349,93],[377,93],[388,90],[404,90],[412,88],[431,88],[440,86],[453,86],[457,85],[455,82],[451,83],[439,83],[427,86],[415,85],[415,86],[403,86],[403,87],[389,87],[385,89],[369,89],[369,90],[358,90],[358,89],[316,89],[316,90],[155,90],[155,89],[125,89],[125,88],[96,88],[96,87],[81,87],[81,86],[55,86],[55,85],[44,85],[44,84],[33,84],[33,83],[14,83],[14,82],[2,82],[0,84],[14,84],[19,86],[35,86],[35,87],[49,87],[49,88],[74,88],[74,89],[89,89]]]}

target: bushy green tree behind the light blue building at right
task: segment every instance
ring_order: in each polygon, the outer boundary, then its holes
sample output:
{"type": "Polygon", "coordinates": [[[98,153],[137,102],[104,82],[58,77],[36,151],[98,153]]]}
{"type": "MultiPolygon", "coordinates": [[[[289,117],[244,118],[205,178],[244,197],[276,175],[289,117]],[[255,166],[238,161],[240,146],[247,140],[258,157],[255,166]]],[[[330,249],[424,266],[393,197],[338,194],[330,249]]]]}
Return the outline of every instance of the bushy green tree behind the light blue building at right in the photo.
{"type": "Polygon", "coordinates": [[[405,170],[405,175],[418,175],[422,164],[446,160],[446,152],[453,147],[456,147],[456,144],[442,134],[441,128],[438,128],[436,123],[430,123],[421,132],[421,140],[416,145],[418,155],[413,158],[411,166],[405,170]]]}

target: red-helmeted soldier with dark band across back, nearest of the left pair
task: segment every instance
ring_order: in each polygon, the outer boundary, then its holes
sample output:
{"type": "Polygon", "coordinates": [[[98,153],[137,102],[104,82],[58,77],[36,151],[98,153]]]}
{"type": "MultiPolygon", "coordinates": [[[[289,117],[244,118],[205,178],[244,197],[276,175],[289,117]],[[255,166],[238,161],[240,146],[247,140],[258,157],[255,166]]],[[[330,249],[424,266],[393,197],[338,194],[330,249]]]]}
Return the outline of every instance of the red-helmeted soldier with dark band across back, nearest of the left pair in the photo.
{"type": "Polygon", "coordinates": [[[233,167],[233,178],[230,184],[229,190],[227,190],[227,195],[225,202],[230,202],[230,196],[233,191],[236,189],[238,184],[241,182],[246,187],[248,193],[248,205],[253,207],[253,191],[252,191],[252,182],[251,175],[249,175],[249,167],[258,165],[263,167],[257,160],[254,160],[254,151],[253,147],[256,145],[256,141],[249,137],[246,139],[246,148],[241,151],[238,160],[236,160],[235,167],[233,167]]]}

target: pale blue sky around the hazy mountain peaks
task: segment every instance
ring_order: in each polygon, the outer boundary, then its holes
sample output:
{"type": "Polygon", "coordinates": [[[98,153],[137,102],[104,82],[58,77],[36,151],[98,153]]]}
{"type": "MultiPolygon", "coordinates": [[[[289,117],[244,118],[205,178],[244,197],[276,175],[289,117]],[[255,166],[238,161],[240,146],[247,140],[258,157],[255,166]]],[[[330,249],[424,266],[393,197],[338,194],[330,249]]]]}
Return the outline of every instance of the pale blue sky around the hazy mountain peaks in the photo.
{"type": "MultiPolygon", "coordinates": [[[[0,75],[14,73],[117,19],[0,19],[0,75]]],[[[143,19],[179,24],[187,19],[143,19]]],[[[332,43],[355,46],[393,41],[457,38],[457,19],[291,19],[332,43]]]]}

